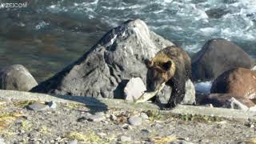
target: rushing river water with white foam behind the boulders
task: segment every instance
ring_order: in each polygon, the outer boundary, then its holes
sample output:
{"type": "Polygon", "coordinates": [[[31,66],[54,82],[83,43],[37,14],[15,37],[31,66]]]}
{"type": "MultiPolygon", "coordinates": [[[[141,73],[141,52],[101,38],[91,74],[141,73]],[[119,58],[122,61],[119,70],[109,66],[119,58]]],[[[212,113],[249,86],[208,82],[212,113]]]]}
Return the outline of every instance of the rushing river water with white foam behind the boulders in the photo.
{"type": "Polygon", "coordinates": [[[0,67],[22,64],[40,82],[134,18],[190,54],[226,38],[256,58],[255,0],[0,0],[0,67]]]}

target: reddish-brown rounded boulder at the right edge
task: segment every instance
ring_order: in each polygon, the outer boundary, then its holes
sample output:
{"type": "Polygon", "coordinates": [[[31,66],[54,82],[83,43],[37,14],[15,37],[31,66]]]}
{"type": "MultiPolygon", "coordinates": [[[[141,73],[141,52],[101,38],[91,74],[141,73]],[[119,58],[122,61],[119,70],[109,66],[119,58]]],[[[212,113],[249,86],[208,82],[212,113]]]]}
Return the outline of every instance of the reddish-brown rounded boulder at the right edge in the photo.
{"type": "Polygon", "coordinates": [[[227,70],[214,80],[210,92],[254,99],[256,98],[256,72],[245,68],[227,70]]]}

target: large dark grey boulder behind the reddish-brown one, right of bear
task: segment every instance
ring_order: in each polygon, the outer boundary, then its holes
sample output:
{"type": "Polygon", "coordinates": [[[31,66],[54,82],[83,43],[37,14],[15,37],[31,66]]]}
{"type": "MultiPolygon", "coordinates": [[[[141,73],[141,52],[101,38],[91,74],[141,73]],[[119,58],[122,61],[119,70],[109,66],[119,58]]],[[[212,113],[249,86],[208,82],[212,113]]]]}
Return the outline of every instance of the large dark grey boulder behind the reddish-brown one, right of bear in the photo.
{"type": "Polygon", "coordinates": [[[253,65],[252,58],[239,46],[225,39],[212,39],[192,58],[192,76],[194,81],[208,81],[226,70],[253,65]]]}

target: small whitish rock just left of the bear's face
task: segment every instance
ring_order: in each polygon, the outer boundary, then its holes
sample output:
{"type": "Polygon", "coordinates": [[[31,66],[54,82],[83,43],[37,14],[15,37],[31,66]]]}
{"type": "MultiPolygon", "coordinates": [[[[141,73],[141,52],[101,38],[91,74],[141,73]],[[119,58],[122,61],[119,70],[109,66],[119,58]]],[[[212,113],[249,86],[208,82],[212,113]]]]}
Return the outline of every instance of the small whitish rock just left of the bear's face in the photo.
{"type": "Polygon", "coordinates": [[[144,91],[146,91],[146,86],[142,79],[131,78],[124,89],[125,99],[134,102],[134,100],[138,99],[144,91]]]}

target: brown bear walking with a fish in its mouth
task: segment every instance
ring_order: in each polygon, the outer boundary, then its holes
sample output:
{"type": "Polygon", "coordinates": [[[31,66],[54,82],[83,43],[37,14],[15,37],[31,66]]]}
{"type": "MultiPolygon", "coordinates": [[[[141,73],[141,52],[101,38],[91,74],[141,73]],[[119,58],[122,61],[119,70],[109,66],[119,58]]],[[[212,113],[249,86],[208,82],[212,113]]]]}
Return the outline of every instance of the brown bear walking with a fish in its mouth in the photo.
{"type": "Polygon", "coordinates": [[[158,51],[155,57],[146,60],[148,67],[147,84],[150,90],[157,90],[162,83],[172,87],[167,107],[181,103],[186,92],[186,81],[191,78],[191,59],[185,50],[178,46],[167,46],[158,51]]]}

